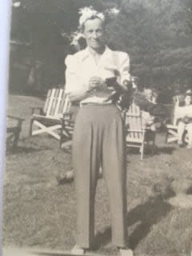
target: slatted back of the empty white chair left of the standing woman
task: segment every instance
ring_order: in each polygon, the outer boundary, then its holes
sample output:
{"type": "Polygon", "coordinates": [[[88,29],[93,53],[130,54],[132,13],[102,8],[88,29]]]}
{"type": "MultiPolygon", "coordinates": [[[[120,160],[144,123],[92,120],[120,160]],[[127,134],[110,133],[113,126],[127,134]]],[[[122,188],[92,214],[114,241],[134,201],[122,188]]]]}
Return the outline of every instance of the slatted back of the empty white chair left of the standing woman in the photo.
{"type": "Polygon", "coordinates": [[[70,100],[63,89],[48,90],[44,113],[46,117],[62,118],[70,110],[70,100]]]}

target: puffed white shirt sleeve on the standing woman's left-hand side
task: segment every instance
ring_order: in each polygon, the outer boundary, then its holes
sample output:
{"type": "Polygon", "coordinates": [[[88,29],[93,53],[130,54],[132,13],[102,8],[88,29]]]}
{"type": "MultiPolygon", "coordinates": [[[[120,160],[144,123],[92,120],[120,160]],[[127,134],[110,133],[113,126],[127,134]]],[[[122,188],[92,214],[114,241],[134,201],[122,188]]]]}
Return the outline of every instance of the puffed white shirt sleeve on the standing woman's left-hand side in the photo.
{"type": "Polygon", "coordinates": [[[77,91],[81,86],[81,78],[78,77],[78,59],[74,55],[66,56],[66,94],[77,91]]]}

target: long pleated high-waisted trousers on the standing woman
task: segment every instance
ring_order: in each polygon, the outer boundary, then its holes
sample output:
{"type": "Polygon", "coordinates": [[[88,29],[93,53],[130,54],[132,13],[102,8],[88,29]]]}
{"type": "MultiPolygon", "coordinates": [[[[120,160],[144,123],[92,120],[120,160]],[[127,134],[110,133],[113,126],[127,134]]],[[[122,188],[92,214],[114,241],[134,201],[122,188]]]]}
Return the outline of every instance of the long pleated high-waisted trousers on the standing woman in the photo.
{"type": "MultiPolygon", "coordinates": [[[[126,147],[122,116],[114,105],[86,105],[78,111],[73,136],[77,194],[77,245],[94,245],[94,198],[99,167],[109,191],[112,242],[126,246],[126,147]]],[[[101,216],[102,218],[102,216],[101,216]]]]}

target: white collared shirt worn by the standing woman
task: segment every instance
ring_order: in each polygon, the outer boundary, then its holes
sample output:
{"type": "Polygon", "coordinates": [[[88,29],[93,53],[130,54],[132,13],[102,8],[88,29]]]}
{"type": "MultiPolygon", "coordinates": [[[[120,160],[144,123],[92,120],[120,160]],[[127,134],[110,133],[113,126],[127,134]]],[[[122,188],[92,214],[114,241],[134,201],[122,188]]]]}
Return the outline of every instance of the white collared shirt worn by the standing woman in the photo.
{"type": "MultiPolygon", "coordinates": [[[[88,90],[89,80],[92,77],[106,78],[116,77],[122,84],[123,81],[130,81],[130,58],[129,55],[112,51],[106,46],[101,59],[96,64],[90,50],[87,47],[74,55],[66,57],[66,94],[78,90],[88,90]]],[[[104,103],[110,102],[110,96],[114,89],[92,91],[82,103],[104,103]]]]}

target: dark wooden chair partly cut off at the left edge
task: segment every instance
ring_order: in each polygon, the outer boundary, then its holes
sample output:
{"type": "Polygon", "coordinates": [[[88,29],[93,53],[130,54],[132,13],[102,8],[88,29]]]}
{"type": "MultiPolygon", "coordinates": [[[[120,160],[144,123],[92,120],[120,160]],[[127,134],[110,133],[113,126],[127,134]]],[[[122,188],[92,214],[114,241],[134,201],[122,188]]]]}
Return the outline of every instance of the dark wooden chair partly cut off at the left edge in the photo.
{"type": "Polygon", "coordinates": [[[23,118],[17,118],[11,115],[6,117],[6,144],[13,142],[13,147],[18,146],[19,134],[22,130],[23,118]]]}

